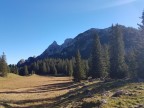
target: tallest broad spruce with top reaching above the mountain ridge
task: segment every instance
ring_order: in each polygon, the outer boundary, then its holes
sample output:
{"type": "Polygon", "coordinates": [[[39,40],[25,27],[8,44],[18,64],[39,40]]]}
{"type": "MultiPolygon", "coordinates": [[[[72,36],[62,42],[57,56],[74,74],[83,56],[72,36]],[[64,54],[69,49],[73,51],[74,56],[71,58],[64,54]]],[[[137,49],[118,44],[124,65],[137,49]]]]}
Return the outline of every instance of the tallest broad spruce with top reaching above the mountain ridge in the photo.
{"type": "Polygon", "coordinates": [[[117,24],[112,26],[110,36],[110,77],[121,79],[127,77],[127,75],[124,41],[120,27],[117,24]]]}

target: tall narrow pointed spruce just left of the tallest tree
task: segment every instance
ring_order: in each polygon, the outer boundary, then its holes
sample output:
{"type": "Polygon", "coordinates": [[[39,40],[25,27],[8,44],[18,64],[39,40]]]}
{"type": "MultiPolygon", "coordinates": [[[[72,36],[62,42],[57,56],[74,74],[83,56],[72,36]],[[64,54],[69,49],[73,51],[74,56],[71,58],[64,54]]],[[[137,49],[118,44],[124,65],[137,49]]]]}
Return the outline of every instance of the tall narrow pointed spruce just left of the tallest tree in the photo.
{"type": "Polygon", "coordinates": [[[101,78],[103,77],[103,63],[102,63],[102,52],[101,52],[101,43],[99,36],[96,34],[94,37],[94,43],[91,54],[91,76],[92,78],[101,78]]]}

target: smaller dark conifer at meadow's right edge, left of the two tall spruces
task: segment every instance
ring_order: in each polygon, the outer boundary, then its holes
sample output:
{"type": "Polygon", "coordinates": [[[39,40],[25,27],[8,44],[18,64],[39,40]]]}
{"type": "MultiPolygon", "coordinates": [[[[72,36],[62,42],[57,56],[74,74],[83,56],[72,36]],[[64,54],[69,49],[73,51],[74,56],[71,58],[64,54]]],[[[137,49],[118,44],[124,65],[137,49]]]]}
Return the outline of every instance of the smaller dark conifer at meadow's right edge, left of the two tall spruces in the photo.
{"type": "Polygon", "coordinates": [[[74,71],[74,81],[80,82],[81,80],[86,78],[86,74],[84,73],[79,50],[76,53],[75,59],[76,59],[76,67],[74,71]]]}

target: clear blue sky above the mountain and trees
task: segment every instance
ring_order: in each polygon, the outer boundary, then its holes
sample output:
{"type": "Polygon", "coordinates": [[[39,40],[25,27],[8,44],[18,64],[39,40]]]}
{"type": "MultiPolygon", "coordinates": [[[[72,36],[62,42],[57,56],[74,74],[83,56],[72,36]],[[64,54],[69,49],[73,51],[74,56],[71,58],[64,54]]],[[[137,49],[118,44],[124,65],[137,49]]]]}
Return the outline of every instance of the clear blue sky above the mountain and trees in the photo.
{"type": "Polygon", "coordinates": [[[0,0],[0,53],[16,64],[90,28],[137,28],[143,9],[144,0],[0,0]]]}

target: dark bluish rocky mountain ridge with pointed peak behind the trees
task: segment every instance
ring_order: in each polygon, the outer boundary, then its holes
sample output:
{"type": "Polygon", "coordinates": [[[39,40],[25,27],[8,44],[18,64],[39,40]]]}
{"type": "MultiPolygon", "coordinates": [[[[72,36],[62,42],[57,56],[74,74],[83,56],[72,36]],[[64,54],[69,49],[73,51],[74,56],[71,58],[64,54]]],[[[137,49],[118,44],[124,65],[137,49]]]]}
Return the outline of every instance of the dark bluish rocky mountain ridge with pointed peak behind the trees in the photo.
{"type": "MultiPolygon", "coordinates": [[[[141,37],[138,29],[122,25],[120,25],[120,28],[123,33],[126,50],[130,50],[134,47],[137,48],[143,44],[144,39],[141,37]]],[[[19,62],[18,65],[45,58],[71,58],[75,56],[77,49],[80,50],[83,58],[88,58],[91,52],[93,37],[96,33],[100,36],[102,45],[108,44],[111,27],[105,29],[91,28],[83,33],[80,33],[74,39],[66,39],[62,45],[58,45],[57,42],[54,41],[41,55],[36,58],[30,57],[23,63],[19,62]]]]}

